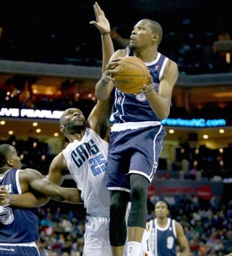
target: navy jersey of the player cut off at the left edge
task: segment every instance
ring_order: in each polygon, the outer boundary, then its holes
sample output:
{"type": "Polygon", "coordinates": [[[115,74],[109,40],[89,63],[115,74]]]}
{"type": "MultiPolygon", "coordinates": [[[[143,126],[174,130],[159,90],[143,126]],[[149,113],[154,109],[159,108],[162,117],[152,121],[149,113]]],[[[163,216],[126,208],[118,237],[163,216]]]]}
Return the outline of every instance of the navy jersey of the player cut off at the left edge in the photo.
{"type": "MultiPolygon", "coordinates": [[[[10,169],[0,178],[0,186],[10,194],[21,194],[20,170],[10,169]]],[[[0,206],[0,242],[26,243],[38,238],[37,209],[25,209],[13,206],[0,206]]]]}

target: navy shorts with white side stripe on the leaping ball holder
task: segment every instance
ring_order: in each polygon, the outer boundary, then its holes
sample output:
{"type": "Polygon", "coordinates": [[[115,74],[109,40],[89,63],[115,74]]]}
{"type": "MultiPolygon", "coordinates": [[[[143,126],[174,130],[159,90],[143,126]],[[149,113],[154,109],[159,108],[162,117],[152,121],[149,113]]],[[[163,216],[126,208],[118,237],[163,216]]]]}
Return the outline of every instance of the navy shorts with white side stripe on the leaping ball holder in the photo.
{"type": "Polygon", "coordinates": [[[106,186],[129,192],[128,174],[153,179],[166,131],[162,125],[134,130],[110,131],[106,186]]]}

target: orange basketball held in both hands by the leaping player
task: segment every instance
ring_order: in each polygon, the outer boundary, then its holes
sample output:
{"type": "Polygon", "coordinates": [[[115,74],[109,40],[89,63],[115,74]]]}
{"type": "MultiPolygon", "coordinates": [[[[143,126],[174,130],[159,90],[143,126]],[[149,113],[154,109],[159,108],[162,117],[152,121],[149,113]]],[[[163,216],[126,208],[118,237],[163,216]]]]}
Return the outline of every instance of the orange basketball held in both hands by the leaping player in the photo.
{"type": "Polygon", "coordinates": [[[112,74],[116,88],[127,94],[138,94],[143,84],[148,82],[149,71],[144,61],[127,56],[119,62],[114,68],[116,73],[112,74]]]}

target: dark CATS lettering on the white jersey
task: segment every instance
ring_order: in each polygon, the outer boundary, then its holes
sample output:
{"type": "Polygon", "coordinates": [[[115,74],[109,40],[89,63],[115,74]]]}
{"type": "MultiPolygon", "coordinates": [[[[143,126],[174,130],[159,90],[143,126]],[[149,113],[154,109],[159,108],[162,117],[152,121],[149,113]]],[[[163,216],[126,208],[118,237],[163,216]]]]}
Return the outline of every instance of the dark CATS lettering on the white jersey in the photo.
{"type": "Polygon", "coordinates": [[[82,145],[76,147],[76,149],[71,152],[71,158],[79,168],[86,160],[88,160],[89,156],[98,153],[99,148],[94,143],[93,139],[91,139],[88,143],[82,143],[82,145]]]}

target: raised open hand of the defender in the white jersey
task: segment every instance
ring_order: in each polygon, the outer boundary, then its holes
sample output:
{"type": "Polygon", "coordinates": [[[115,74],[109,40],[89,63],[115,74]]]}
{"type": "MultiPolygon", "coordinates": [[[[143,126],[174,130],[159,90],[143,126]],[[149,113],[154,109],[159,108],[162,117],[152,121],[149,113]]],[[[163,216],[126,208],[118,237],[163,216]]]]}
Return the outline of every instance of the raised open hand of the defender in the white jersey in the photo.
{"type": "Polygon", "coordinates": [[[93,4],[93,10],[96,20],[92,20],[89,24],[96,26],[101,33],[110,33],[110,22],[106,19],[104,11],[99,7],[99,3],[93,4]]]}

